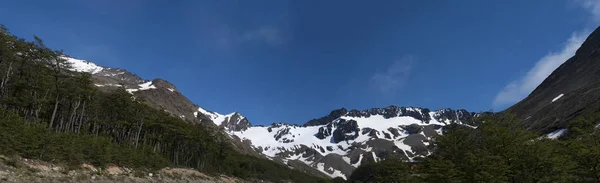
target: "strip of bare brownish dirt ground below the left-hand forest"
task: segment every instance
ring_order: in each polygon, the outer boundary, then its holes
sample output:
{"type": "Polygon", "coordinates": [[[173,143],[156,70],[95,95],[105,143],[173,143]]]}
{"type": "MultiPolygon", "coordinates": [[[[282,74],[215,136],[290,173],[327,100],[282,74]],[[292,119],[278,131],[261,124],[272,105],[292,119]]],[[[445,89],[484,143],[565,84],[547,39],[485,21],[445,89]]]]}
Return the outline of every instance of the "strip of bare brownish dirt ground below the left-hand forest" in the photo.
{"type": "MultiPolygon", "coordinates": [[[[247,183],[221,175],[211,177],[185,168],[164,168],[157,172],[142,172],[118,166],[95,167],[82,164],[65,167],[48,162],[0,155],[0,183],[247,183]]],[[[265,181],[266,182],[266,181],[265,181]]]]}

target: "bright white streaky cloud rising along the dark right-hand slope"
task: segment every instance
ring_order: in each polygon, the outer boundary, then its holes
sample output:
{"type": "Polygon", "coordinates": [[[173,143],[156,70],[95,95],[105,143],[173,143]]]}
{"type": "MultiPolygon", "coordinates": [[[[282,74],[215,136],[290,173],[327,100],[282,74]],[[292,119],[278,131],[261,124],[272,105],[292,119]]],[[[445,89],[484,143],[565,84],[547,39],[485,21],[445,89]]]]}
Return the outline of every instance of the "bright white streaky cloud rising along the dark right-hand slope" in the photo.
{"type": "MultiPolygon", "coordinates": [[[[599,0],[573,0],[590,13],[590,21],[600,22],[600,1],[599,0]]],[[[577,49],[585,41],[589,30],[574,32],[564,43],[563,48],[557,52],[551,52],[542,57],[522,78],[510,82],[494,98],[495,107],[514,104],[525,98],[533,91],[544,79],[546,79],[558,66],[567,59],[575,55],[577,49]]]]}

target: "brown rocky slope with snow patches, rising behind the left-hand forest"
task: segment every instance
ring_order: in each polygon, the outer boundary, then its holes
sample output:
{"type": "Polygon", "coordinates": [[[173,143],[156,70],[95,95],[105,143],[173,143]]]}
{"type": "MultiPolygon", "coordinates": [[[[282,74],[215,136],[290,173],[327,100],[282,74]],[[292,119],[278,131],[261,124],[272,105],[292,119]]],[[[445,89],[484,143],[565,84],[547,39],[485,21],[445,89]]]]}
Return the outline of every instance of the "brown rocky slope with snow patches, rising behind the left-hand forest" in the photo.
{"type": "Polygon", "coordinates": [[[97,87],[105,91],[123,88],[151,106],[182,119],[226,130],[243,130],[251,126],[248,119],[237,112],[223,115],[201,108],[180,93],[175,85],[163,79],[145,80],[125,69],[103,67],[67,56],[63,58],[71,64],[72,70],[90,73],[97,87]]]}

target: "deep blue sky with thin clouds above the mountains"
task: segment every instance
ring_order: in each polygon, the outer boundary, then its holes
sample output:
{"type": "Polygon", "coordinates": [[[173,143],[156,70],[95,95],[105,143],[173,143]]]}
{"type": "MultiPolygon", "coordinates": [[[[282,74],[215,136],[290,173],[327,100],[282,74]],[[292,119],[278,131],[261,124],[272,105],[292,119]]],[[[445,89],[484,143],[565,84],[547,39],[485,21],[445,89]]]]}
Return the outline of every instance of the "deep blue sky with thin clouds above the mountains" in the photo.
{"type": "Polygon", "coordinates": [[[174,83],[254,124],[332,109],[502,110],[573,54],[597,0],[23,0],[13,33],[76,58],[174,83]]]}

